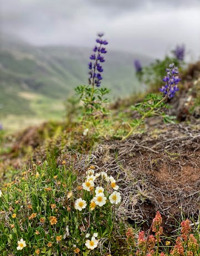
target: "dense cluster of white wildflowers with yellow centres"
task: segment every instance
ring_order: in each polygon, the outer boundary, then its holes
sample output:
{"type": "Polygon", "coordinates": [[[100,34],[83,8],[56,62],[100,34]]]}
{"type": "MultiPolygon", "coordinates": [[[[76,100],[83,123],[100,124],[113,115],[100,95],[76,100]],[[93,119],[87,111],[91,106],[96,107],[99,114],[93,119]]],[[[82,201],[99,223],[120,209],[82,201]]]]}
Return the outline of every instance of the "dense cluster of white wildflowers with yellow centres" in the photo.
{"type": "MultiPolygon", "coordinates": [[[[102,207],[107,202],[107,197],[105,194],[105,188],[102,186],[98,186],[100,184],[104,184],[106,182],[106,187],[110,187],[114,192],[110,194],[109,201],[111,204],[118,204],[121,202],[120,192],[117,192],[119,186],[116,185],[116,181],[114,177],[108,176],[106,172],[98,172],[95,174],[94,168],[89,168],[86,171],[85,182],[83,183],[83,190],[89,191],[93,194],[93,198],[90,201],[90,210],[93,211],[96,206],[102,207]],[[100,180],[100,182],[99,182],[100,180]]],[[[82,209],[86,208],[86,201],[82,198],[76,199],[75,201],[75,209],[82,211],[82,209]]]]}

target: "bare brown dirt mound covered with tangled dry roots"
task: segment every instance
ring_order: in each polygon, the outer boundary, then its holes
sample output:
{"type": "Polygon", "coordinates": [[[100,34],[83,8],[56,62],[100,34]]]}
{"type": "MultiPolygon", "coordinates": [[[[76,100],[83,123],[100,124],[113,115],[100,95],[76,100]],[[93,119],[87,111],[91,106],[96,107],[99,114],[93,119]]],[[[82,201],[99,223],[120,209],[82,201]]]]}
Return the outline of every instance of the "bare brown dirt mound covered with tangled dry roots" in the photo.
{"type": "Polygon", "coordinates": [[[199,130],[200,124],[196,128],[160,126],[156,132],[98,146],[90,163],[119,181],[123,195],[120,217],[151,223],[156,211],[160,211],[168,225],[175,224],[181,214],[198,216],[199,130]]]}

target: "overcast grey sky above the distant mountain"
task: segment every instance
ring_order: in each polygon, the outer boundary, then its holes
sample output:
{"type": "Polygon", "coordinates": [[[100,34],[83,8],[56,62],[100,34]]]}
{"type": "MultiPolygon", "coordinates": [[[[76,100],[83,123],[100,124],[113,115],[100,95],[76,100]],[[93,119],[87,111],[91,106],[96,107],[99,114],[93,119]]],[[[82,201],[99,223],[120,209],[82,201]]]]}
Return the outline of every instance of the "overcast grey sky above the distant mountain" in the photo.
{"type": "Polygon", "coordinates": [[[109,48],[163,57],[185,44],[200,57],[200,0],[0,0],[1,32],[36,45],[93,47],[105,32],[109,48]]]}

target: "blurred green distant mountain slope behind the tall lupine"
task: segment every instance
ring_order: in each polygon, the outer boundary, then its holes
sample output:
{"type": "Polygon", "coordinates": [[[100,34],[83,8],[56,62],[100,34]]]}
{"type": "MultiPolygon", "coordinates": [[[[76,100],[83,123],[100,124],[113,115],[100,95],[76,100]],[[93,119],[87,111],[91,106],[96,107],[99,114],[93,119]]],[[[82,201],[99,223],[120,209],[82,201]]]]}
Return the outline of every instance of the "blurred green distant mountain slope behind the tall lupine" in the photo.
{"type": "MultiPolygon", "coordinates": [[[[0,45],[0,112],[4,115],[35,114],[34,95],[49,100],[49,106],[55,100],[63,102],[73,94],[75,86],[88,83],[90,54],[89,48],[34,47],[11,35],[3,35],[0,45]]],[[[142,64],[152,61],[139,54],[116,52],[108,45],[102,86],[111,89],[111,98],[139,90],[133,66],[136,58],[142,64]]]]}

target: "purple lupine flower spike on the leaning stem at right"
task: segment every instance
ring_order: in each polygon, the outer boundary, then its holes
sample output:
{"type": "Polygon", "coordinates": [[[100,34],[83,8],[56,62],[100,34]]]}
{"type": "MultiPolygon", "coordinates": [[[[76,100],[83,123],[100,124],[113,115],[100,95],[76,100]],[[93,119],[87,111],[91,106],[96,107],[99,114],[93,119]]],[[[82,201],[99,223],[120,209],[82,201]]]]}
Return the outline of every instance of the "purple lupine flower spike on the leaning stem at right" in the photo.
{"type": "Polygon", "coordinates": [[[169,68],[166,69],[167,75],[162,79],[165,82],[165,85],[160,88],[163,96],[168,96],[168,98],[173,98],[175,96],[176,91],[178,91],[178,82],[181,79],[178,76],[178,68],[174,63],[170,64],[169,68]]]}

